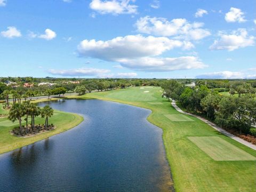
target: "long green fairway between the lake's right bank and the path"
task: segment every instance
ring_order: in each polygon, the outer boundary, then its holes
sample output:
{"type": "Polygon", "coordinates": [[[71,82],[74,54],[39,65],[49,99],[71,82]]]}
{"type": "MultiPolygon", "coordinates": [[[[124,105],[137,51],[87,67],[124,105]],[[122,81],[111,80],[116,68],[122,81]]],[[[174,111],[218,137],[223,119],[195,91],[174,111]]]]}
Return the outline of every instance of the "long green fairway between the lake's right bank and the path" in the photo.
{"type": "Polygon", "coordinates": [[[80,97],[74,95],[71,98],[96,98],[150,109],[152,113],[148,121],[163,129],[166,157],[176,191],[255,191],[256,161],[247,160],[256,157],[256,151],[226,137],[195,117],[189,116],[194,120],[189,122],[175,122],[166,118],[166,114],[180,113],[171,106],[171,102],[161,97],[160,91],[160,87],[132,87],[80,97]],[[152,105],[151,102],[161,102],[163,105],[152,105]],[[190,137],[208,139],[197,139],[203,144],[196,144],[196,141],[191,142],[190,137]],[[212,156],[209,149],[207,152],[202,149],[202,145],[211,148],[212,156]],[[246,161],[215,161],[219,153],[226,154],[225,160],[227,157],[238,160],[243,156],[246,161]]]}

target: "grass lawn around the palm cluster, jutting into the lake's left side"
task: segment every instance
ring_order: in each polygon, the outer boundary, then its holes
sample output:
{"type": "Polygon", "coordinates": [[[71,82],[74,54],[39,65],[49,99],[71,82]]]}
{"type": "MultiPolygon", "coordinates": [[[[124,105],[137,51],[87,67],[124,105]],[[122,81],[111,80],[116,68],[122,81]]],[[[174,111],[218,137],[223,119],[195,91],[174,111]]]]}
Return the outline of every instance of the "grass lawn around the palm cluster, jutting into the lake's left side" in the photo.
{"type": "MultiPolygon", "coordinates": [[[[44,121],[45,119],[41,117],[35,118],[36,124],[44,124],[44,121]]],[[[0,118],[0,154],[23,146],[27,146],[42,139],[46,139],[54,134],[67,131],[75,127],[82,121],[83,117],[80,115],[54,110],[53,116],[49,118],[49,123],[53,123],[56,126],[56,129],[42,134],[38,134],[35,137],[18,138],[13,136],[10,132],[13,127],[17,127],[19,123],[12,123],[9,119],[7,119],[7,117],[0,118]]],[[[23,125],[25,124],[26,122],[23,121],[23,125]]]]}

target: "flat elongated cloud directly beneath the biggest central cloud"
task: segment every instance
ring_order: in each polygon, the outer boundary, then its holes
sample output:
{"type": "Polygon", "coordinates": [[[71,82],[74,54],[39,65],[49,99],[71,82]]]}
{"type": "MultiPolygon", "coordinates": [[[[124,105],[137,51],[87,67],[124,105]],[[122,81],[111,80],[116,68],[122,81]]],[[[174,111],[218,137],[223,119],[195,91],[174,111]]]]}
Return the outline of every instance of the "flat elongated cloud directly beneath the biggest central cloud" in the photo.
{"type": "Polygon", "coordinates": [[[138,59],[119,59],[122,66],[141,71],[173,71],[182,69],[199,69],[206,65],[197,57],[178,58],[143,57],[138,59]]]}

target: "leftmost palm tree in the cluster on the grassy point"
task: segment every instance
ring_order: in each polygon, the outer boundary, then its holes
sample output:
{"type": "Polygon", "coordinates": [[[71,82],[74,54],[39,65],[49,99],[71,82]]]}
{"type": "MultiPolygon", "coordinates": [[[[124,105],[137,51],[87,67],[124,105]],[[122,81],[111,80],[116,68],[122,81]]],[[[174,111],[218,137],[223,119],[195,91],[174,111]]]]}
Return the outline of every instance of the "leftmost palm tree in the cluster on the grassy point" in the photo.
{"type": "Polygon", "coordinates": [[[21,117],[25,115],[25,110],[23,109],[23,106],[19,103],[14,103],[12,108],[10,109],[8,118],[14,122],[16,120],[19,120],[20,125],[20,134],[22,135],[22,127],[21,127],[21,117]]]}

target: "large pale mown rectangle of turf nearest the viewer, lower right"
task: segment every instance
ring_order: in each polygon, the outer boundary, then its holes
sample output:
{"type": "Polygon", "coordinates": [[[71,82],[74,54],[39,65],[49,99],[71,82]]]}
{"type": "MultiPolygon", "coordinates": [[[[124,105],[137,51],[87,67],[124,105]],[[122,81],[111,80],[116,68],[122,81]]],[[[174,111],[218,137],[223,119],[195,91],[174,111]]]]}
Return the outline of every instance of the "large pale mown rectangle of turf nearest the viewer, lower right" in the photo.
{"type": "Polygon", "coordinates": [[[215,161],[256,161],[256,157],[220,137],[188,137],[215,161]]]}

